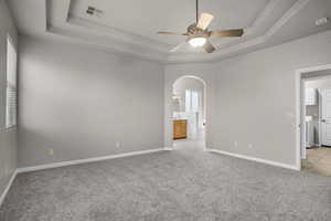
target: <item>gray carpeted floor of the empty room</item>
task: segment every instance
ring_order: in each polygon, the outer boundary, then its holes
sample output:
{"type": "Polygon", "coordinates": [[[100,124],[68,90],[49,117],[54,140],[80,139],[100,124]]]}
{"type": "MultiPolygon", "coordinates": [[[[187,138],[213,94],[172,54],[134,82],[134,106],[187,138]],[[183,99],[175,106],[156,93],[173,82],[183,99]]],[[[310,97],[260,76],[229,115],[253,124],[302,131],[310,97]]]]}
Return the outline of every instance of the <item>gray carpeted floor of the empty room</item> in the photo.
{"type": "Polygon", "coordinates": [[[1,221],[330,221],[331,179],[195,147],[22,173],[1,221]]]}

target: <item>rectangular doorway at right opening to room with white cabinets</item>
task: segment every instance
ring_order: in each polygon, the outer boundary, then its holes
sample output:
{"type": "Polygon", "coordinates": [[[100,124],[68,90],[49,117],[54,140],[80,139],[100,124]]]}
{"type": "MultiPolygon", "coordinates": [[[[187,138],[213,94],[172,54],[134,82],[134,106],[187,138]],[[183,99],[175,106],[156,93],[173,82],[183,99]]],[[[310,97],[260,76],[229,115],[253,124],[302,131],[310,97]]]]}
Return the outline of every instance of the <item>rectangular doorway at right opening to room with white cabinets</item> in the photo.
{"type": "Polygon", "coordinates": [[[331,177],[331,66],[300,74],[301,170],[331,177]]]}

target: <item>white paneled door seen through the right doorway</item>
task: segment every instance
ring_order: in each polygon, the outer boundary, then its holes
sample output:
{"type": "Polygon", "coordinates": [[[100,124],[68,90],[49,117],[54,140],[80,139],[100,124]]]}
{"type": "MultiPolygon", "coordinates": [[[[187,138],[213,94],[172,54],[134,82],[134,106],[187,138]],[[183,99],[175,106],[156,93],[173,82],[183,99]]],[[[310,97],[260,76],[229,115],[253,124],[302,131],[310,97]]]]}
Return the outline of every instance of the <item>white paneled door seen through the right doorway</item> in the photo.
{"type": "Polygon", "coordinates": [[[331,146],[331,90],[321,90],[321,140],[331,146]]]}

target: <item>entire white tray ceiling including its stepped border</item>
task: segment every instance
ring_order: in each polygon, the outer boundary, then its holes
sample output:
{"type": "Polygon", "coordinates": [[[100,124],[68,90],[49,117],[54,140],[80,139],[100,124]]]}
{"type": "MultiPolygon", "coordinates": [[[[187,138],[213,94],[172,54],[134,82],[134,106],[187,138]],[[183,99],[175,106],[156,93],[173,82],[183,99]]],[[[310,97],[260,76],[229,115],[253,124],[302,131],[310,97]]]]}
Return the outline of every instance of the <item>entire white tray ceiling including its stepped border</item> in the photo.
{"type": "Polygon", "coordinates": [[[195,20],[195,0],[10,0],[22,34],[71,40],[160,62],[215,61],[331,29],[317,19],[331,18],[331,0],[200,0],[200,11],[214,14],[210,29],[245,28],[243,38],[212,39],[212,54],[184,46],[169,50],[195,20]],[[88,6],[103,12],[86,13],[88,6]]]}

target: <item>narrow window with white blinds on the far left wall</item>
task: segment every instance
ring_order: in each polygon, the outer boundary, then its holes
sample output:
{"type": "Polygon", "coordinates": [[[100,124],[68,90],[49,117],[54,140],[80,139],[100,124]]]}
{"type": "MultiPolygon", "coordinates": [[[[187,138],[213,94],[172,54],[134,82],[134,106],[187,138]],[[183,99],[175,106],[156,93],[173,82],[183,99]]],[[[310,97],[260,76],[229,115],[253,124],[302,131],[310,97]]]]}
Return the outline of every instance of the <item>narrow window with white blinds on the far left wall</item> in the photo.
{"type": "Polygon", "coordinates": [[[11,38],[7,38],[6,128],[17,125],[17,51],[11,38]]]}

